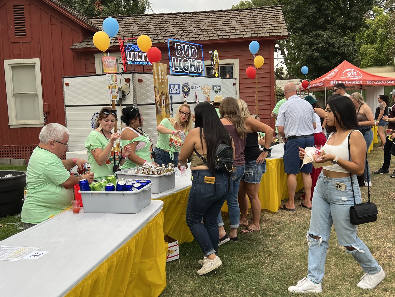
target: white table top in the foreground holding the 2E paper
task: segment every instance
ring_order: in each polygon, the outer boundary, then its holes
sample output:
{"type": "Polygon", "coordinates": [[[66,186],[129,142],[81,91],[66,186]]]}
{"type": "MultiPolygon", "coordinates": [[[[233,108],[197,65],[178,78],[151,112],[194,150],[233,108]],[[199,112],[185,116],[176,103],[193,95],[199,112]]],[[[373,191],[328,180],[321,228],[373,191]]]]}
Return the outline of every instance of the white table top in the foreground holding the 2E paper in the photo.
{"type": "Polygon", "coordinates": [[[41,247],[49,253],[36,260],[0,261],[0,295],[66,295],[147,225],[162,207],[162,201],[151,201],[135,214],[64,211],[1,241],[9,246],[41,247]]]}

